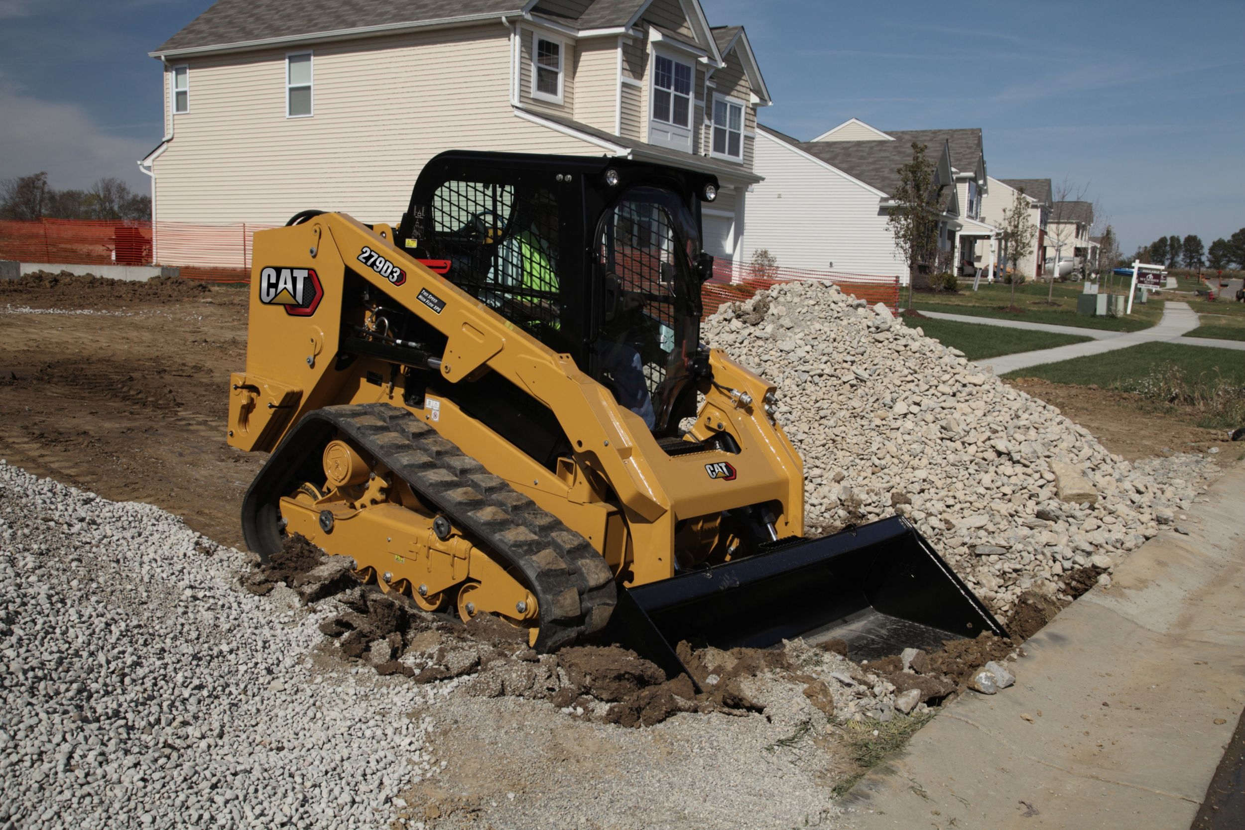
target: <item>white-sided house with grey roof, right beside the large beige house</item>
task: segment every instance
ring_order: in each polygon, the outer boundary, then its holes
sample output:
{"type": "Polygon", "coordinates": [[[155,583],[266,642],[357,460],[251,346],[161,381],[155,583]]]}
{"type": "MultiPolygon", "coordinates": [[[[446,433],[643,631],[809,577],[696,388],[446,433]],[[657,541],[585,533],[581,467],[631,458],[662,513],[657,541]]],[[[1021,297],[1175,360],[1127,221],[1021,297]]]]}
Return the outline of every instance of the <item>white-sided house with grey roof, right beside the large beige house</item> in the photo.
{"type": "Polygon", "coordinates": [[[977,238],[996,230],[980,219],[986,164],[980,129],[883,132],[853,118],[810,142],[761,127],[743,259],[766,248],[779,266],[898,276],[908,268],[886,225],[898,169],[925,144],[935,166],[939,245],[956,271],[971,274],[977,238]]]}

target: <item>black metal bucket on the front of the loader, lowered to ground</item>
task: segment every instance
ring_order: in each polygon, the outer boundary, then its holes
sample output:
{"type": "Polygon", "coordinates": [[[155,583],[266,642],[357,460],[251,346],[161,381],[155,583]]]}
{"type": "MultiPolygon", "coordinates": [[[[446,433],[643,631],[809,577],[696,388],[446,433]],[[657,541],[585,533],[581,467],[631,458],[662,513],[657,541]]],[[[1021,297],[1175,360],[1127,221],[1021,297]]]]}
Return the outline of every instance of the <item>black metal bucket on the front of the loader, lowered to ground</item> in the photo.
{"type": "Polygon", "coordinates": [[[620,590],[608,635],[674,676],[686,671],[674,650],[684,640],[768,648],[840,638],[853,660],[870,660],[982,631],[1006,636],[916,529],[891,516],[620,590]]]}

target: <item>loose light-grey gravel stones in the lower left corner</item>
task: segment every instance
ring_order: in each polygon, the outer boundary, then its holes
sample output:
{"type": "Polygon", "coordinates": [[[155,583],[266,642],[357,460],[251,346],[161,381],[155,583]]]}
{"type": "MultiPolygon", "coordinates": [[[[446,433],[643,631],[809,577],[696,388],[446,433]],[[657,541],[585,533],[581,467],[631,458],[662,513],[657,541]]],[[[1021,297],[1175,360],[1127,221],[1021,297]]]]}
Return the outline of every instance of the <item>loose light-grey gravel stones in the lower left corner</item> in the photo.
{"type": "MultiPolygon", "coordinates": [[[[430,689],[316,668],[325,613],[158,508],[0,463],[0,828],[377,828],[430,689]]],[[[327,611],[327,610],[325,610],[327,611]]]]}

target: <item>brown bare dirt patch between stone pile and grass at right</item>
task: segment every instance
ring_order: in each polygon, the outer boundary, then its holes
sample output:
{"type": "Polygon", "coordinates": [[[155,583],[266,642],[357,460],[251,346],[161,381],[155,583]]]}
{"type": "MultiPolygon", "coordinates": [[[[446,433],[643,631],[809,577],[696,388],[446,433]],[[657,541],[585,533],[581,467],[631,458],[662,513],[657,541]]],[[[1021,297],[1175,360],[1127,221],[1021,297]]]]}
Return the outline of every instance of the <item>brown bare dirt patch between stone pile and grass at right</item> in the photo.
{"type": "Polygon", "coordinates": [[[1103,447],[1128,460],[1226,445],[1223,431],[1194,426],[1196,413],[1182,409],[1160,412],[1138,394],[1051,383],[1041,378],[1021,377],[1005,382],[1058,407],[1068,418],[1092,432],[1103,447]]]}

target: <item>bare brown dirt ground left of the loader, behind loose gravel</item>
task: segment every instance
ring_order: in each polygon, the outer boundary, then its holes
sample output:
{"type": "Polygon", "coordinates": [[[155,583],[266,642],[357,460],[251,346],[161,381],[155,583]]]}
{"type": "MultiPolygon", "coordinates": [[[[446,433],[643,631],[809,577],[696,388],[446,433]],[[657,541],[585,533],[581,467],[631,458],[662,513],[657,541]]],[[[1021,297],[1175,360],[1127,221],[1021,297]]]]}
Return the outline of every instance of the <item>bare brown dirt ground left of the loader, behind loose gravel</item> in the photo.
{"type": "Polygon", "coordinates": [[[239,505],[264,462],[224,441],[245,355],[245,290],[0,281],[0,457],[242,545],[239,505]]]}

